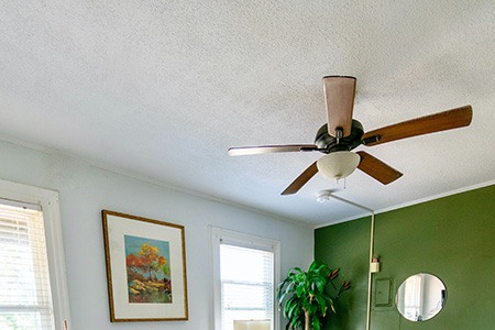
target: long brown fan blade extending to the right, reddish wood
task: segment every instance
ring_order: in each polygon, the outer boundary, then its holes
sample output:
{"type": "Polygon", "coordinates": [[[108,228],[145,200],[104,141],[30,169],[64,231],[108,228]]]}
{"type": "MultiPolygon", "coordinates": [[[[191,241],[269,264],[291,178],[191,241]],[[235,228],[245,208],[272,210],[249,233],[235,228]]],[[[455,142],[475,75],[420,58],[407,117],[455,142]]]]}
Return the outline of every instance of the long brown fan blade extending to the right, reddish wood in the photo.
{"type": "Polygon", "coordinates": [[[382,144],[395,140],[468,127],[472,118],[473,109],[471,106],[464,106],[370,131],[363,135],[363,140],[378,135],[378,141],[366,143],[366,145],[382,144]]]}

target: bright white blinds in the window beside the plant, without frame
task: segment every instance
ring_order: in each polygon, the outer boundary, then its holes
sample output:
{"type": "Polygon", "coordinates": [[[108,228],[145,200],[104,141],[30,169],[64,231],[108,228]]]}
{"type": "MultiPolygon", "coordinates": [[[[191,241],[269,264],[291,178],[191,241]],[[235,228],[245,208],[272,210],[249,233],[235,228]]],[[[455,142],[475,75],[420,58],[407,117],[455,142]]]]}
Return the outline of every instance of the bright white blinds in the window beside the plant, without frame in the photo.
{"type": "Polygon", "coordinates": [[[270,320],[274,312],[274,253],[220,243],[222,330],[234,320],[270,320]]]}

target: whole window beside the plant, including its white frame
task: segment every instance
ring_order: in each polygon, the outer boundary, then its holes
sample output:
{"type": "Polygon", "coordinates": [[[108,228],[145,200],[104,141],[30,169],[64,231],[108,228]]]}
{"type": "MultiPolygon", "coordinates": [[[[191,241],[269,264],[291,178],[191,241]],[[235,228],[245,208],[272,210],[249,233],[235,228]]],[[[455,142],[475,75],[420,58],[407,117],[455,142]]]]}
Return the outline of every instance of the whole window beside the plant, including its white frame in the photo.
{"type": "Polygon", "coordinates": [[[279,243],[221,229],[212,229],[212,240],[215,329],[235,330],[234,321],[248,320],[277,329],[279,243]]]}

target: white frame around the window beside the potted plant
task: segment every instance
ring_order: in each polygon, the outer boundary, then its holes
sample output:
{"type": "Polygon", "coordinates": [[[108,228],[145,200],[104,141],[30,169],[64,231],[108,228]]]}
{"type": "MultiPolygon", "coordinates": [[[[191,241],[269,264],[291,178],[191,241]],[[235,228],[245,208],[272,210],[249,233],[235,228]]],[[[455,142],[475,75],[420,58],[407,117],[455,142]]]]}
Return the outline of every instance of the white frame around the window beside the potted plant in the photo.
{"type": "Polygon", "coordinates": [[[226,241],[233,245],[249,249],[271,251],[274,254],[274,293],[273,293],[273,329],[279,328],[279,312],[276,300],[276,287],[280,282],[280,242],[227,229],[210,227],[211,238],[211,274],[213,301],[213,329],[221,329],[221,284],[220,284],[220,243],[226,241]]]}

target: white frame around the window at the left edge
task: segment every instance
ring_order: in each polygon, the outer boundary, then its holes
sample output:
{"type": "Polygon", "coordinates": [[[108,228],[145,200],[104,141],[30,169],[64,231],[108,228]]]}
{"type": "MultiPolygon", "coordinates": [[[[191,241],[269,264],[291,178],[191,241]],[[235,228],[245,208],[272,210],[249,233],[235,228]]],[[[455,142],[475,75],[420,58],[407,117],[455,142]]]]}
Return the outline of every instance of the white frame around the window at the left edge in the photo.
{"type": "Polygon", "coordinates": [[[55,329],[70,329],[58,193],[0,179],[0,198],[37,205],[43,211],[55,329]]]}

